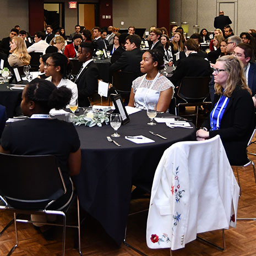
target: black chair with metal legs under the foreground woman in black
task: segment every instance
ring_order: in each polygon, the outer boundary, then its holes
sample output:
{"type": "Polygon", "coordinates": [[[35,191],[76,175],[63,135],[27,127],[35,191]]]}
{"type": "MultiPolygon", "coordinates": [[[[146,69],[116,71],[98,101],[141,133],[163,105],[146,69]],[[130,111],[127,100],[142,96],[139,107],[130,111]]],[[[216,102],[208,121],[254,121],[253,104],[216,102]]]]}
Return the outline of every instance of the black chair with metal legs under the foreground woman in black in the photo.
{"type": "Polygon", "coordinates": [[[0,154],[0,162],[0,210],[13,211],[16,233],[16,244],[8,255],[12,254],[18,246],[17,222],[62,226],[62,255],[65,254],[66,227],[78,228],[78,249],[80,255],[82,255],[80,248],[79,201],[77,195],[73,193],[72,200],[62,210],[48,209],[52,203],[66,193],[66,186],[56,157],[52,155],[18,156],[0,154]],[[77,198],[78,224],[76,226],[66,225],[66,213],[75,198],[77,198]],[[40,209],[39,204],[43,205],[40,209]],[[17,214],[61,215],[63,216],[63,225],[17,219],[17,214]]]}

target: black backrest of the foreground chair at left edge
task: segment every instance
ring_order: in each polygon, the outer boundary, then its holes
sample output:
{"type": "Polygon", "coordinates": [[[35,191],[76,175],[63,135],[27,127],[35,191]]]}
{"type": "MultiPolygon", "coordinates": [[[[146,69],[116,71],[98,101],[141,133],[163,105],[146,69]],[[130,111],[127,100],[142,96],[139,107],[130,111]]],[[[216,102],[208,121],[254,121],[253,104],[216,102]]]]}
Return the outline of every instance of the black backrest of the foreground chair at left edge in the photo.
{"type": "Polygon", "coordinates": [[[7,201],[43,203],[66,193],[61,170],[53,155],[0,154],[0,162],[0,194],[7,201]]]}

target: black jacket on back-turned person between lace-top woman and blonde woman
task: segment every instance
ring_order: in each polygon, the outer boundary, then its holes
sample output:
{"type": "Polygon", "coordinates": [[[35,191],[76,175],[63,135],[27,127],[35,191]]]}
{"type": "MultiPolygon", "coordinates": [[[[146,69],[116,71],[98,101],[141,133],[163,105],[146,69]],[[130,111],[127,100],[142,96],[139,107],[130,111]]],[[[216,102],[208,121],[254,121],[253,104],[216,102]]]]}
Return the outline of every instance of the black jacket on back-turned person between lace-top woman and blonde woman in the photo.
{"type": "Polygon", "coordinates": [[[198,53],[190,53],[187,58],[179,62],[171,77],[171,82],[175,86],[179,86],[183,77],[208,77],[210,74],[211,67],[209,61],[199,57],[198,53]]]}

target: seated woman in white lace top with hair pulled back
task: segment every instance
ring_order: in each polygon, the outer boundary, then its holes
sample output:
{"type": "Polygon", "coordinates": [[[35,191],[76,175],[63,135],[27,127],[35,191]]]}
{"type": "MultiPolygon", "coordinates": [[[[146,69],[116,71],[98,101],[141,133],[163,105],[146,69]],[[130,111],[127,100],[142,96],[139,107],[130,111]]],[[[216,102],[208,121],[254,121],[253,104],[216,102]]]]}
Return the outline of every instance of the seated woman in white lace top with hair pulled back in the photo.
{"type": "Polygon", "coordinates": [[[140,62],[140,71],[145,73],[133,81],[128,106],[146,110],[148,104],[155,103],[157,111],[166,111],[170,105],[174,85],[160,74],[164,57],[158,50],[146,51],[140,62]]]}

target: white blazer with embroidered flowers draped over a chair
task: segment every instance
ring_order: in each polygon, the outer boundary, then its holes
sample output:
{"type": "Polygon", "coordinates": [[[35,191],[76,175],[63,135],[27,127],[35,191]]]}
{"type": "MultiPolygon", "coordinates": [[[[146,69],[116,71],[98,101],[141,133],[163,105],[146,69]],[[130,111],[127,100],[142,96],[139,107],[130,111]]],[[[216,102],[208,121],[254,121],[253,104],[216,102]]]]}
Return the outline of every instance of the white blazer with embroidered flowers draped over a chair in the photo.
{"type": "Polygon", "coordinates": [[[219,135],[173,144],[152,185],[146,243],[183,248],[197,233],[236,226],[239,187],[219,135]]]}

